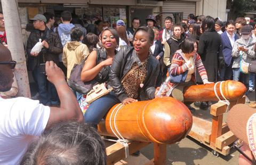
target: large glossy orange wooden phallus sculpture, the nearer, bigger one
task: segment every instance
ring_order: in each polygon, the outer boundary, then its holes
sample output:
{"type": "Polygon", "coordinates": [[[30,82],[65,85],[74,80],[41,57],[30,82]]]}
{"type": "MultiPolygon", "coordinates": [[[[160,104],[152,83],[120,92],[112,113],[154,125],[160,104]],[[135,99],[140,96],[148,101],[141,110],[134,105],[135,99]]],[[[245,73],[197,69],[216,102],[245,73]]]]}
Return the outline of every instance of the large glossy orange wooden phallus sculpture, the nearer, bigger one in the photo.
{"type": "Polygon", "coordinates": [[[192,127],[192,115],[188,108],[170,97],[126,104],[117,111],[119,106],[112,107],[105,120],[98,125],[101,135],[115,136],[111,123],[114,132],[118,131],[126,139],[173,144],[185,138],[192,127]]]}

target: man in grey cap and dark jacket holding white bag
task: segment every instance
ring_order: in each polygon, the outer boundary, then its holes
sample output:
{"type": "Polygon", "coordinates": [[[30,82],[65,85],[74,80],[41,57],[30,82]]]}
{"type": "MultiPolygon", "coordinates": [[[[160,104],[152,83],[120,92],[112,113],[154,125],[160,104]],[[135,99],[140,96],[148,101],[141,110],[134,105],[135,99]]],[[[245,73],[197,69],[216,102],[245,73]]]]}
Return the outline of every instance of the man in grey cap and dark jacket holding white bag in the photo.
{"type": "Polygon", "coordinates": [[[27,43],[27,54],[29,55],[28,67],[35,76],[41,103],[48,106],[58,106],[59,99],[57,91],[52,83],[47,81],[44,67],[46,61],[53,61],[58,65],[59,54],[62,53],[62,44],[59,35],[46,28],[46,18],[42,14],[37,14],[33,19],[33,25],[36,29],[31,32],[27,43]],[[42,39],[42,50],[39,53],[31,53],[31,49],[42,39]],[[50,85],[50,88],[47,88],[50,85]],[[49,89],[50,91],[48,92],[49,89]],[[50,96],[47,95],[50,93],[50,96]]]}

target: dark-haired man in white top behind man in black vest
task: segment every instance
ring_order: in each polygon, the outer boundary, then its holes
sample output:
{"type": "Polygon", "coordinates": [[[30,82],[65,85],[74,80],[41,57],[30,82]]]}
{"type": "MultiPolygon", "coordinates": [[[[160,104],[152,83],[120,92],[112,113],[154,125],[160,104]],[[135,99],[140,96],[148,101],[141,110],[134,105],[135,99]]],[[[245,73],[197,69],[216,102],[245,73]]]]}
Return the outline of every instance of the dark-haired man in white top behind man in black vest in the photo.
{"type": "Polygon", "coordinates": [[[173,21],[170,16],[167,16],[164,20],[165,28],[159,32],[159,39],[161,39],[164,45],[167,40],[172,37],[172,25],[173,21]]]}

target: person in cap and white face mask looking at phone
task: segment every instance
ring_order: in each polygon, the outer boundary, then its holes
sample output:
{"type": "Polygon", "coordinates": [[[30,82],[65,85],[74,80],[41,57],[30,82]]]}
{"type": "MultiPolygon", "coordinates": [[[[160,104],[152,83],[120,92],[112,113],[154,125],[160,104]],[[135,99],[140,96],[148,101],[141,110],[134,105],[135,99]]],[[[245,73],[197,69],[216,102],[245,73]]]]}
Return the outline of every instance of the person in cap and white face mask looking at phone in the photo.
{"type": "MultiPolygon", "coordinates": [[[[232,49],[232,57],[234,58],[234,62],[232,65],[233,69],[233,80],[239,81],[240,76],[243,76],[243,83],[247,88],[247,91],[245,93],[245,96],[248,93],[249,89],[249,78],[250,74],[246,74],[241,72],[241,62],[245,63],[251,63],[252,59],[255,58],[255,51],[254,51],[254,45],[256,43],[256,40],[253,39],[251,34],[251,27],[249,25],[243,26],[241,30],[242,37],[237,39],[234,43],[234,47],[232,49]]],[[[245,102],[250,103],[249,98],[245,97],[245,102]]]]}

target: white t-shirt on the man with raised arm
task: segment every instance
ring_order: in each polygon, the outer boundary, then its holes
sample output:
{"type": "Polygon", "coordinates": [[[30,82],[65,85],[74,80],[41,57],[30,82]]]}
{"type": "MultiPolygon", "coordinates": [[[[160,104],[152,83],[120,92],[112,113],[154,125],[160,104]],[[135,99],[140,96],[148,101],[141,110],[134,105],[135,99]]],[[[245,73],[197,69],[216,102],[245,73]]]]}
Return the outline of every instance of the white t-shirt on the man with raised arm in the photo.
{"type": "Polygon", "coordinates": [[[43,133],[49,117],[50,107],[39,101],[0,96],[0,164],[20,164],[29,143],[43,133]]]}

